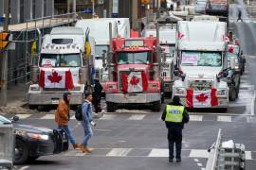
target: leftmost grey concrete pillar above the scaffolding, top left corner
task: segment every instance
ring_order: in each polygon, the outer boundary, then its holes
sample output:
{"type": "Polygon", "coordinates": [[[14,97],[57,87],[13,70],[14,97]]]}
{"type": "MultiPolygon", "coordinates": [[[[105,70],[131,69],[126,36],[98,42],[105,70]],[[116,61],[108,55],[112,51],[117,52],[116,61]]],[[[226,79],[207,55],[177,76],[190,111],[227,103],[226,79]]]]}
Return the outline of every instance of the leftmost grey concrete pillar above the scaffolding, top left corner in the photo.
{"type": "Polygon", "coordinates": [[[20,23],[20,0],[10,1],[10,24],[20,23]]]}

